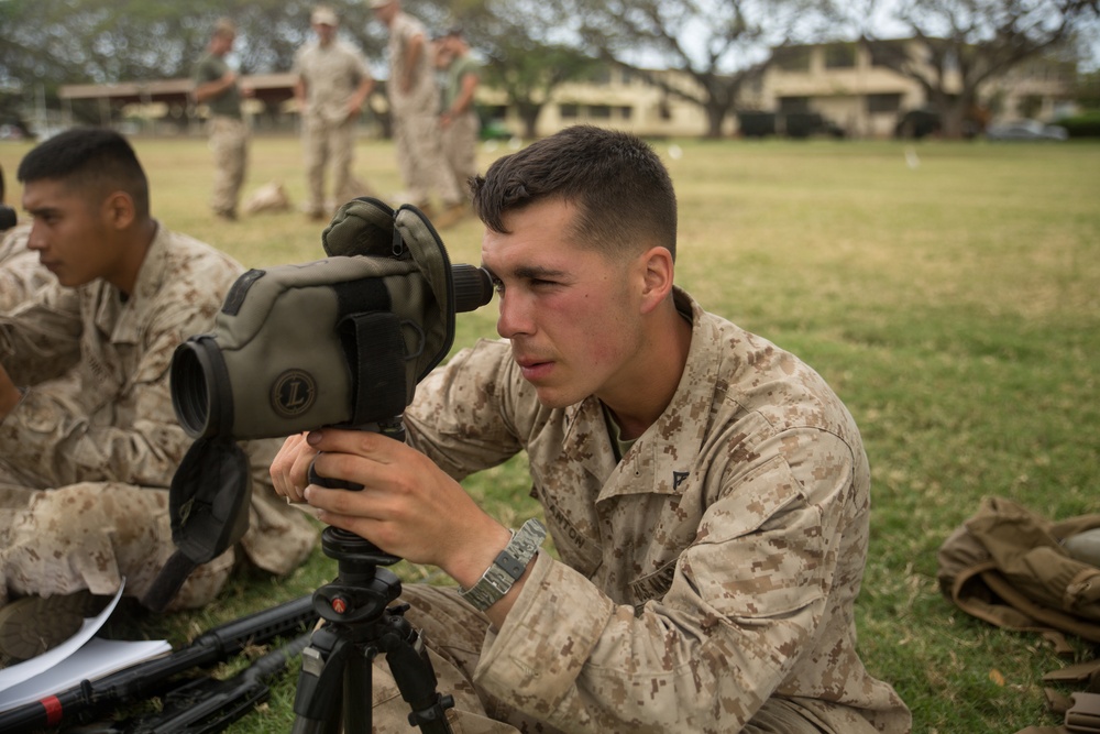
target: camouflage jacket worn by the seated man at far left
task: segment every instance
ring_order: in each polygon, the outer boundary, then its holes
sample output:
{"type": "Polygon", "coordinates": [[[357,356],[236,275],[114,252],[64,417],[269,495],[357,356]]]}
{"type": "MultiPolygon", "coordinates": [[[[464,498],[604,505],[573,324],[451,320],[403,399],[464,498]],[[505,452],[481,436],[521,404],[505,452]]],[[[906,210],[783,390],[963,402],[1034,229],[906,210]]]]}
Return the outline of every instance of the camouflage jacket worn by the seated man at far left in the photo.
{"type": "MultiPolygon", "coordinates": [[[[173,352],[211,329],[242,272],[218,250],[158,227],[125,300],[103,281],[78,288],[53,281],[0,314],[0,364],[25,387],[0,421],[8,481],[31,489],[96,481],[167,487],[191,445],[172,407],[173,352]]],[[[316,533],[270,487],[278,445],[245,445],[254,491],[243,545],[258,566],[282,573],[308,554],[316,533]]]]}

